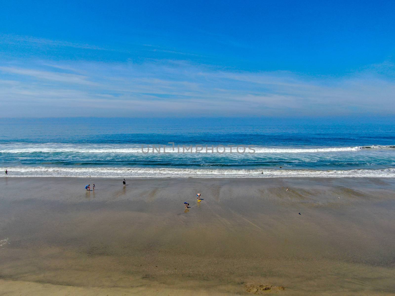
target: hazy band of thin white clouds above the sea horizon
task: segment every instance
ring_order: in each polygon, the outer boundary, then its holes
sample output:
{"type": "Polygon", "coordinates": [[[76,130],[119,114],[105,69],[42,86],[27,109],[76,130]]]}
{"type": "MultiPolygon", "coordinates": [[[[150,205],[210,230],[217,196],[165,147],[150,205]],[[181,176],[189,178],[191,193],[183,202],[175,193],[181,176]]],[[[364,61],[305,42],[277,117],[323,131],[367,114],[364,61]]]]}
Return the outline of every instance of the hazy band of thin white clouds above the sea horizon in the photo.
{"type": "Polygon", "coordinates": [[[0,117],[393,115],[393,65],[342,77],[246,72],[187,61],[2,62],[0,117]]]}

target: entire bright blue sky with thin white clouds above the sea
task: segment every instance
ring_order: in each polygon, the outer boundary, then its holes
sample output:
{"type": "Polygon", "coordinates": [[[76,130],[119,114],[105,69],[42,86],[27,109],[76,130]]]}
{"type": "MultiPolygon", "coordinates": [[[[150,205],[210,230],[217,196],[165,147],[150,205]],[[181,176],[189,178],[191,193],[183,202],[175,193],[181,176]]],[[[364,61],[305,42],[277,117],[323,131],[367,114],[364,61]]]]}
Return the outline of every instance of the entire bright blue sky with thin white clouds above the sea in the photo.
{"type": "Polygon", "coordinates": [[[0,117],[393,115],[393,1],[3,1],[0,117]]]}

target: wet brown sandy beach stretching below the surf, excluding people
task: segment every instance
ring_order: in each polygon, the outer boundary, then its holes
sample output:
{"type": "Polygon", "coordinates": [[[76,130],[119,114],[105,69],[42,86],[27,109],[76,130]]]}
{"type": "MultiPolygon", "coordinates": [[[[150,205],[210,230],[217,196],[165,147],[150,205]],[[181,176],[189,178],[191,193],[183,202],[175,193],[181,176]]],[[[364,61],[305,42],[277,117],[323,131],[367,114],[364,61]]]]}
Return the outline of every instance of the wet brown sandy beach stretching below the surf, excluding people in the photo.
{"type": "Polygon", "coordinates": [[[0,295],[395,295],[392,178],[127,183],[0,178],[0,295]]]}

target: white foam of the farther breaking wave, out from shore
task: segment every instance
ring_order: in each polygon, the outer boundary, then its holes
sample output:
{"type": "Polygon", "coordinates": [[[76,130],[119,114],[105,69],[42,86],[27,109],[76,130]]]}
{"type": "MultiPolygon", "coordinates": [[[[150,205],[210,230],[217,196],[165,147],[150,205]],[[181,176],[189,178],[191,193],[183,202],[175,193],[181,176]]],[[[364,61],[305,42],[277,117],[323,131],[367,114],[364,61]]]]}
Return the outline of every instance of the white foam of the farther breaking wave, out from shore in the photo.
{"type": "Polygon", "coordinates": [[[198,147],[190,145],[179,147],[171,147],[169,145],[164,146],[155,145],[130,145],[130,144],[62,144],[62,143],[43,143],[43,144],[28,144],[28,143],[16,143],[16,144],[0,144],[0,153],[110,153],[110,154],[164,154],[164,153],[315,153],[315,152],[352,152],[363,149],[395,149],[395,146],[354,146],[354,147],[328,147],[328,148],[266,148],[243,145],[239,146],[237,150],[236,145],[232,145],[233,148],[225,146],[214,146],[207,145],[208,148],[198,147]],[[245,147],[245,148],[243,148],[245,147]]]}

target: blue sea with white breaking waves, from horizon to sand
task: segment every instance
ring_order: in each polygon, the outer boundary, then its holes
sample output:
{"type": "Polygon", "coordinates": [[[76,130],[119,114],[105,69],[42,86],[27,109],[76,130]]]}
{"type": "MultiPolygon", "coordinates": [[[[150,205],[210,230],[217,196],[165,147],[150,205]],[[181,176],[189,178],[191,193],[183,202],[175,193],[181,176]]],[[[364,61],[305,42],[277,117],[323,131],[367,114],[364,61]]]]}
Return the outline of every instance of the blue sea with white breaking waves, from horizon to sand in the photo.
{"type": "Polygon", "coordinates": [[[0,167],[9,177],[395,177],[395,126],[0,124],[0,167]]]}

